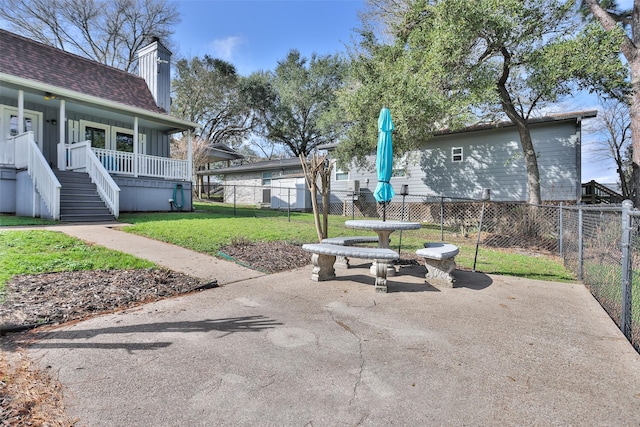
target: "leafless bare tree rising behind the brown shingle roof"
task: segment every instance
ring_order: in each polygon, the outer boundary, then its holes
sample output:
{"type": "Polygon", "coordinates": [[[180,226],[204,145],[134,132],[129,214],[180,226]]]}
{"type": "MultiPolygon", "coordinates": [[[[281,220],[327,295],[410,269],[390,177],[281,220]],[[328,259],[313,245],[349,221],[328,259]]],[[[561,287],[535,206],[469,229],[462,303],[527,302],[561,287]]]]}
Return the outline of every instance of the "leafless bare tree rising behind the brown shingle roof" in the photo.
{"type": "Polygon", "coordinates": [[[17,34],[128,72],[150,37],[168,44],[180,22],[167,0],[3,0],[0,18],[17,34]]]}

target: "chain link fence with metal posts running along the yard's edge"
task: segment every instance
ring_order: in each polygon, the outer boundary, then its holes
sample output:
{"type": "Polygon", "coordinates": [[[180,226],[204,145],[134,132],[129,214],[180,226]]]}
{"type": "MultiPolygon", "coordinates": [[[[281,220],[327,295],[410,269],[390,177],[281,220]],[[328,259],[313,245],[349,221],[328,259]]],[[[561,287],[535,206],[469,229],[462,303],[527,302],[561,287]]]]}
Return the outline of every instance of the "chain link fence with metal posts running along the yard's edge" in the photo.
{"type": "MultiPolygon", "coordinates": [[[[304,193],[305,190],[302,190],[304,193]]],[[[310,211],[300,188],[218,185],[225,203],[310,211]]],[[[209,196],[211,197],[211,196],[209,196]]],[[[319,200],[321,205],[321,201],[319,200]]],[[[530,205],[517,202],[396,194],[384,205],[373,193],[331,191],[330,215],[422,222],[440,240],[561,256],[640,351],[640,211],[617,206],[530,205]]],[[[432,233],[433,234],[433,233],[432,233]]]]}

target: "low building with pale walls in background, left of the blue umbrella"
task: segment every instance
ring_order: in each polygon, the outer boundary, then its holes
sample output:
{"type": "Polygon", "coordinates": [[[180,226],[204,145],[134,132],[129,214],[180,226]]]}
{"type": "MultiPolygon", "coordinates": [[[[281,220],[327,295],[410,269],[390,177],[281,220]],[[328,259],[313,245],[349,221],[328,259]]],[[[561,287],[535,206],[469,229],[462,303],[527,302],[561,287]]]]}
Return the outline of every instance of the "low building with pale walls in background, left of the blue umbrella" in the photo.
{"type": "Polygon", "coordinates": [[[311,196],[297,157],[203,171],[224,185],[224,202],[270,207],[311,209],[311,196]]]}

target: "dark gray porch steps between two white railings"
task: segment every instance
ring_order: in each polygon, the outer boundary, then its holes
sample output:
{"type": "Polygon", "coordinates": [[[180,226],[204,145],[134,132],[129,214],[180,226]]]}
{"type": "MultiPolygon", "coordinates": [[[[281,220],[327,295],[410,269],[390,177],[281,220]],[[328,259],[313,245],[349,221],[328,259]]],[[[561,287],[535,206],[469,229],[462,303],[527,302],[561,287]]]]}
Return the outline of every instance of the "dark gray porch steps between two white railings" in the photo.
{"type": "Polygon", "coordinates": [[[115,218],[86,172],[53,171],[60,181],[60,221],[102,222],[115,218]]]}

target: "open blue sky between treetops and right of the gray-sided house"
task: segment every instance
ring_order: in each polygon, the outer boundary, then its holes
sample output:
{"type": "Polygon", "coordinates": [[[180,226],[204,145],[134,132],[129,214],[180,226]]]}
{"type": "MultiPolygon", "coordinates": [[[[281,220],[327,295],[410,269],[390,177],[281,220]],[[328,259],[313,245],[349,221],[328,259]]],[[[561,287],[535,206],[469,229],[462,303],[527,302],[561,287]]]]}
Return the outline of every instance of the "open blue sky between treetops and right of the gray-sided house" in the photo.
{"type": "MultiPolygon", "coordinates": [[[[174,57],[208,54],[232,63],[242,75],[275,69],[291,49],[305,57],[346,52],[365,4],[364,0],[174,1],[182,17],[173,37],[174,57]]],[[[597,109],[597,100],[583,94],[556,111],[590,109],[597,109]]],[[[616,183],[615,165],[594,152],[588,124],[583,122],[582,182],[616,183]]]]}

